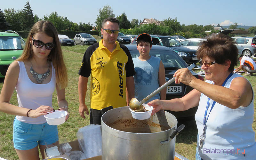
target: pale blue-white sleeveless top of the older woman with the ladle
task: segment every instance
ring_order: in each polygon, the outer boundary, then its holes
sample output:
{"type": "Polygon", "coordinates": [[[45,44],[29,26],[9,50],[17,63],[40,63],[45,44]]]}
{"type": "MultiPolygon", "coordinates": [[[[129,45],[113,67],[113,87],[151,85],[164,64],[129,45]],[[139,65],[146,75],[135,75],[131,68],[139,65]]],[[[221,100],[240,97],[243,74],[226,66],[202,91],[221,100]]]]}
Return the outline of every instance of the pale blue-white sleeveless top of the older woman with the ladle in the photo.
{"type": "MultiPolygon", "coordinates": [[[[229,88],[232,80],[240,75],[233,74],[224,87],[229,88]]],[[[205,81],[212,84],[212,81],[205,81]]],[[[253,94],[254,97],[254,94],[253,94]]],[[[195,115],[198,129],[197,146],[203,132],[203,119],[208,97],[201,94],[199,106],[195,115]]],[[[232,101],[232,100],[230,100],[232,101]]],[[[209,115],[213,100],[210,99],[209,115]]],[[[253,99],[249,106],[231,109],[216,102],[208,121],[204,145],[198,152],[202,159],[256,159],[255,132],[253,123],[253,99]]]]}

